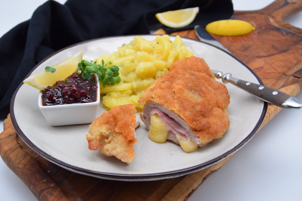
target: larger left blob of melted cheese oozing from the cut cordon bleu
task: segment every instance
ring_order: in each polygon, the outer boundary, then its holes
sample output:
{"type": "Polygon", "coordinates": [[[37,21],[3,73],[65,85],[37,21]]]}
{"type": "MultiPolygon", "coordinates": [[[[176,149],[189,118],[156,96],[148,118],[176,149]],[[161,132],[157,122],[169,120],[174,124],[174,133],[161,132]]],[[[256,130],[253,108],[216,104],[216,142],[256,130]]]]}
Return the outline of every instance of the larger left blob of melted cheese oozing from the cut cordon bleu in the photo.
{"type": "Polygon", "coordinates": [[[162,122],[158,114],[151,115],[149,138],[156,143],[164,143],[167,140],[169,129],[162,122]]]}

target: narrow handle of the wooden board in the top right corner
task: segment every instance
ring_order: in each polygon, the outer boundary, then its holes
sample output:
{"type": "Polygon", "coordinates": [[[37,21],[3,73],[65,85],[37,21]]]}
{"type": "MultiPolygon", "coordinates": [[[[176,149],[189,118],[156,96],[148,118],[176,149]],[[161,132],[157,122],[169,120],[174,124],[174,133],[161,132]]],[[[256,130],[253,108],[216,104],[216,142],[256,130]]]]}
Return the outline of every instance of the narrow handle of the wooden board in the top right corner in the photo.
{"type": "Polygon", "coordinates": [[[301,10],[301,0],[276,0],[259,11],[284,20],[286,17],[294,15],[301,10]]]}

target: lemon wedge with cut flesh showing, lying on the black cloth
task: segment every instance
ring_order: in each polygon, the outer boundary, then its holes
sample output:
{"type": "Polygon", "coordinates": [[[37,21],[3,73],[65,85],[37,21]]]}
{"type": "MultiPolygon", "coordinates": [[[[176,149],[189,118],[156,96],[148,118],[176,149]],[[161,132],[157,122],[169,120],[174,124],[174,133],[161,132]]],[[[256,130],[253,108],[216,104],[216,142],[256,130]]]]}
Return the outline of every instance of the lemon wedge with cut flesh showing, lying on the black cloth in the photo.
{"type": "Polygon", "coordinates": [[[155,17],[163,25],[171,28],[185,27],[191,24],[199,12],[199,7],[157,13],[155,17]]]}

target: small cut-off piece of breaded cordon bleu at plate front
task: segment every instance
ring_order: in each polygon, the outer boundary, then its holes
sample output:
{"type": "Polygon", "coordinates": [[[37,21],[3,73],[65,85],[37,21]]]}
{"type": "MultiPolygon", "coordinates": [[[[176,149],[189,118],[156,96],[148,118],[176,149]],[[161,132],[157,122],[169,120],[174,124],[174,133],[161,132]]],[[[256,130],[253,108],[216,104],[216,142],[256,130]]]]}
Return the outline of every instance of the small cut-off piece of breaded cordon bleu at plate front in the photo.
{"type": "Polygon", "coordinates": [[[107,156],[115,156],[123,162],[131,163],[134,158],[135,105],[120,105],[104,112],[89,126],[86,139],[90,150],[100,151],[107,156]]]}

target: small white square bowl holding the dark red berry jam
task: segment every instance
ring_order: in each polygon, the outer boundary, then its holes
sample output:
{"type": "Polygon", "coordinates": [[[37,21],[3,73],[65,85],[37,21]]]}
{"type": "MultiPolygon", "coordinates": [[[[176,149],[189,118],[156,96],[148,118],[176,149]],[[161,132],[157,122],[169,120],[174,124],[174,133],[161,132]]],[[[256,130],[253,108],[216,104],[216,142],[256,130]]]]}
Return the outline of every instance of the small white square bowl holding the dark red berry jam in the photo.
{"type": "Polygon", "coordinates": [[[100,83],[98,76],[94,74],[95,83],[98,87],[95,102],[73,103],[63,105],[43,105],[42,94],[39,93],[38,105],[45,119],[52,126],[73,124],[90,124],[95,119],[100,104],[100,83]]]}

